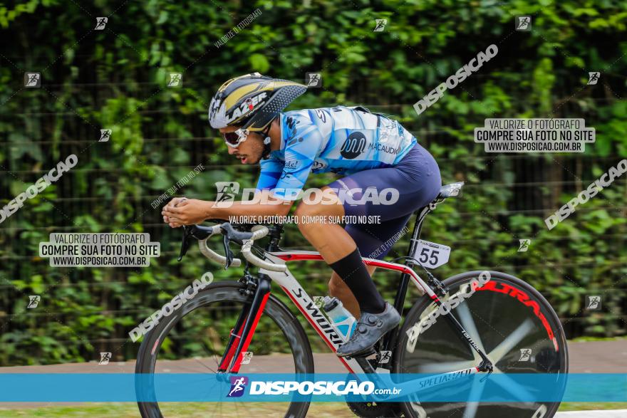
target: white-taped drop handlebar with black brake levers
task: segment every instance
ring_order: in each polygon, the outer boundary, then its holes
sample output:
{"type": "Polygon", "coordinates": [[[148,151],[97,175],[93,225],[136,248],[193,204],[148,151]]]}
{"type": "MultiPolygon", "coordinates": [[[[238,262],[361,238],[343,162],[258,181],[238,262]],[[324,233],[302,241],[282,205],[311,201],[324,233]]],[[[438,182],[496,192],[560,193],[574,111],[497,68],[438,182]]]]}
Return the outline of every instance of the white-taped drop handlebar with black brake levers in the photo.
{"type": "Polygon", "coordinates": [[[271,263],[252,254],[252,244],[254,243],[254,240],[263,238],[268,234],[269,230],[267,226],[255,225],[252,227],[250,232],[242,232],[234,230],[233,226],[229,222],[224,222],[223,224],[213,226],[184,226],[184,230],[185,233],[183,235],[179,261],[187,252],[187,247],[189,246],[189,244],[187,244],[187,239],[189,239],[189,236],[193,236],[195,239],[198,239],[198,246],[202,255],[216,261],[220,265],[224,266],[224,268],[228,268],[229,266],[238,267],[242,265],[242,260],[232,257],[232,252],[229,249],[230,241],[242,244],[242,255],[247,259],[247,261],[249,261],[249,263],[254,264],[254,266],[258,266],[269,271],[285,271],[287,268],[285,264],[271,263]],[[224,251],[226,251],[227,256],[221,256],[207,246],[207,239],[216,234],[222,234],[224,236],[224,251]]]}

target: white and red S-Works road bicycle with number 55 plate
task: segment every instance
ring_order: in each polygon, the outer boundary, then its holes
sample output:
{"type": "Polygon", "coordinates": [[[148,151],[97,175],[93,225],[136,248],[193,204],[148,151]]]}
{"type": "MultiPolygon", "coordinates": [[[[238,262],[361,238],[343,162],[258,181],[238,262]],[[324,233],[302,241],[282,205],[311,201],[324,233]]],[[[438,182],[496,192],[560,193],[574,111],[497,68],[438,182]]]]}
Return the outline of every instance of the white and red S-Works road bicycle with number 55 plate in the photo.
{"type": "MultiPolygon", "coordinates": [[[[551,305],[532,286],[498,271],[468,271],[440,281],[424,266],[425,260],[420,261],[420,255],[415,258],[425,217],[445,199],[459,195],[462,186],[463,183],[443,186],[436,199],[415,212],[407,256],[393,261],[363,259],[369,266],[400,273],[394,306],[401,315],[406,312],[403,323],[387,333],[366,355],[341,358],[316,354],[320,356],[318,361],[339,361],[351,374],[383,376],[387,373],[388,377],[484,374],[489,377],[492,373],[527,373],[549,375],[551,379],[554,376],[555,385],[561,385],[560,379],[568,372],[564,330],[551,305]],[[425,279],[414,267],[424,273],[425,279]],[[482,278],[482,274],[487,274],[489,280],[482,278]],[[409,283],[415,285],[421,296],[405,310],[409,283]]],[[[223,220],[214,221],[222,223],[185,227],[179,260],[187,252],[190,241],[197,239],[200,252],[207,258],[225,268],[242,266],[242,260],[234,258],[229,248],[230,243],[235,243],[242,246],[244,275],[238,282],[212,283],[167,320],[161,320],[144,336],[135,372],[150,375],[206,371],[226,376],[259,372],[314,373],[309,338],[286,303],[271,292],[271,286],[278,286],[286,293],[321,341],[331,352],[336,352],[344,343],[341,334],[288,268],[294,261],[323,261],[322,257],[315,251],[281,249],[281,224],[251,228],[250,225],[233,226],[223,220]],[[216,234],[222,234],[224,256],[207,246],[207,239],[216,234]],[[264,248],[254,244],[265,236],[269,237],[269,242],[264,248]],[[257,274],[249,270],[252,267],[259,268],[257,274]],[[199,351],[206,355],[192,356],[199,351]]],[[[415,387],[411,383],[400,385],[415,387]]],[[[145,387],[140,389],[145,390],[145,387]]],[[[482,388],[472,387],[472,390],[476,393],[482,388]]],[[[403,402],[394,402],[393,397],[374,397],[347,403],[359,417],[550,418],[559,402],[549,400],[551,402],[421,403],[419,397],[403,402]]],[[[142,417],[150,418],[305,417],[310,402],[291,399],[291,402],[246,404],[138,402],[138,405],[142,417]]]]}

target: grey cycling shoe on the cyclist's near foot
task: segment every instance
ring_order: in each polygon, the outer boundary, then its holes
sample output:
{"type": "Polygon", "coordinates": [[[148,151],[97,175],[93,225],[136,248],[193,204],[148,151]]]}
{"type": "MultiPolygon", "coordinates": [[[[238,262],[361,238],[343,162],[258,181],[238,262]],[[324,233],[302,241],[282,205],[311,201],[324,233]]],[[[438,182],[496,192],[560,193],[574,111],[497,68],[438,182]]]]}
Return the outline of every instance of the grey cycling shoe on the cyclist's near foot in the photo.
{"type": "Polygon", "coordinates": [[[400,323],[400,315],[389,303],[385,303],[382,313],[362,313],[351,339],[342,344],[336,354],[338,357],[355,357],[370,352],[373,345],[400,323]]]}

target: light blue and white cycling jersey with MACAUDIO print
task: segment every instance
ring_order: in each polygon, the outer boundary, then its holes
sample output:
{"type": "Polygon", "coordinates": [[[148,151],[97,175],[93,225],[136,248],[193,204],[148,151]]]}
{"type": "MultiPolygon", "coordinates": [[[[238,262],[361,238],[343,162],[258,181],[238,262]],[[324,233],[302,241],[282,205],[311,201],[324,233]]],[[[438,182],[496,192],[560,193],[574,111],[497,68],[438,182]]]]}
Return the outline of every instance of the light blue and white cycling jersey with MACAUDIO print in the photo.
{"type": "Polygon", "coordinates": [[[417,142],[395,120],[358,108],[281,113],[281,149],[261,160],[257,189],[296,199],[310,172],[353,174],[393,167],[417,142]]]}

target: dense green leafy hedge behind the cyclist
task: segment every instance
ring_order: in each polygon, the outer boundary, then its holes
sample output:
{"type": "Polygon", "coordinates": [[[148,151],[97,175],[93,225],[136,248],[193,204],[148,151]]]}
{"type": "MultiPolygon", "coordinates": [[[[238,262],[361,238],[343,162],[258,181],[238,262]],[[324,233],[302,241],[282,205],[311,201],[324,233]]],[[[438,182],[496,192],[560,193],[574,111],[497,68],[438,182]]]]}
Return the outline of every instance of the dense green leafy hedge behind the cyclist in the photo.
{"type": "MultiPolygon", "coordinates": [[[[78,156],[0,224],[0,365],[96,360],[100,351],[133,358],[128,331],[193,279],[239,277],[195,249],[177,263],[180,231],[150,203],[197,164],[207,169],[180,194],[210,200],[216,181],[254,184],[258,167],[229,158],[206,116],[224,80],[252,71],[292,80],[321,72],[323,88],[292,109],[360,104],[394,115],[435,155],[444,182],[467,182],[423,231],[453,248],[438,276],[512,273],[553,303],[569,338],[624,334],[625,178],[555,229],[543,219],[627,157],[626,22],[618,0],[0,5],[0,206],[78,156]],[[214,45],[256,9],[250,26],[214,45]],[[514,31],[519,15],[533,17],[532,31],[514,31]],[[108,16],[103,31],[93,30],[98,16],[108,16]],[[383,32],[375,19],[388,19],[383,32]],[[497,57],[416,115],[413,103],[492,43],[497,57]],[[42,88],[23,87],[26,71],[41,72],[42,88]],[[598,85],[586,85],[589,71],[601,71],[598,85]],[[170,72],[183,74],[182,88],[166,87],[170,72]],[[581,117],[596,143],[583,155],[487,154],[472,140],[487,117],[581,117]],[[104,128],[112,139],[98,142],[104,128]],[[38,243],[61,231],[149,232],[162,255],[142,269],[51,268],[38,243]],[[528,238],[529,251],[517,252],[528,238]],[[590,294],[603,296],[600,312],[584,310],[590,294]],[[28,295],[42,296],[37,309],[26,309],[28,295]]],[[[308,186],[332,178],[312,176],[308,186]]],[[[407,240],[388,258],[405,255],[407,240]]],[[[309,248],[294,226],[284,246],[309,248]]],[[[311,295],[326,292],[326,266],[296,273],[311,295]]],[[[375,280],[393,296],[395,276],[375,280]]]]}

